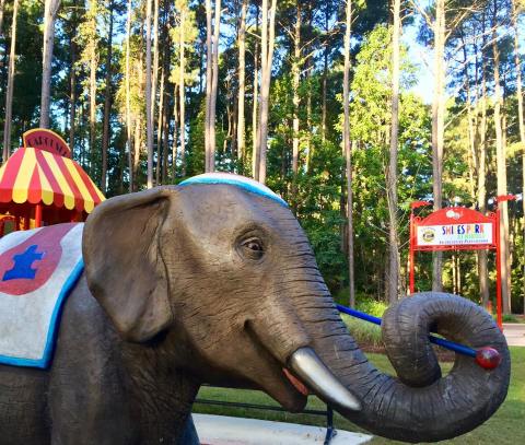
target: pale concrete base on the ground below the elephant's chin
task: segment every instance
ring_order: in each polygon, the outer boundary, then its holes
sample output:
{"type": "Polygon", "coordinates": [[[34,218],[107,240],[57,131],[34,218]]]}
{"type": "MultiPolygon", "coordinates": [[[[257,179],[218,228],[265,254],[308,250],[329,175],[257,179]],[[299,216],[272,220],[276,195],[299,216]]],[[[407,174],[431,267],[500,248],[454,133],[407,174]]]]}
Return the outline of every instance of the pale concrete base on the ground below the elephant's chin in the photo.
{"type": "MultiPolygon", "coordinates": [[[[225,415],[192,414],[202,445],[322,445],[326,429],[267,420],[231,418],[225,415]]],[[[337,431],[330,444],[358,445],[372,436],[337,431]]]]}

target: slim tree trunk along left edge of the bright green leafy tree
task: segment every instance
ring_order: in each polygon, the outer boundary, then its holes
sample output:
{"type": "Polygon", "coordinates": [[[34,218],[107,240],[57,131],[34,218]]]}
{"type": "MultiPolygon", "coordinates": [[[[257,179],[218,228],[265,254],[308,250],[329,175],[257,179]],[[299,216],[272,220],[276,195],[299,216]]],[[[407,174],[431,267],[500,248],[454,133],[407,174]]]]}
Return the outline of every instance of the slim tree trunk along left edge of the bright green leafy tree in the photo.
{"type": "Polygon", "coordinates": [[[353,197],[352,197],[352,147],[350,141],[350,42],[352,26],[352,1],[347,0],[346,30],[345,30],[345,68],[342,79],[342,109],[345,120],[342,127],[342,142],[347,161],[347,220],[348,220],[348,286],[349,306],[355,307],[355,284],[353,265],[353,197]]]}

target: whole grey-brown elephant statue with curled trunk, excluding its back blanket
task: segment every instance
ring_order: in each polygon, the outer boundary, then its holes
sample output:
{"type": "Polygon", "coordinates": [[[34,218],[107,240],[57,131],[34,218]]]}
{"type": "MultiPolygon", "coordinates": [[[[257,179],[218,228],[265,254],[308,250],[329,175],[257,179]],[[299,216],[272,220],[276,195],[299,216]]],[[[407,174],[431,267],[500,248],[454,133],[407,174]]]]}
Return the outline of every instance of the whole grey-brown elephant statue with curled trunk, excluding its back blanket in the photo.
{"type": "Polygon", "coordinates": [[[0,444],[194,443],[180,437],[202,383],[258,388],[293,412],[315,394],[407,442],[470,431],[505,398],[505,339],[458,296],[394,304],[383,336],[397,377],[377,371],[285,202],[249,179],[209,174],[108,199],[85,222],[82,251],[50,367],[0,365],[0,444]],[[456,355],[442,376],[431,329],[495,348],[501,364],[456,355]]]}

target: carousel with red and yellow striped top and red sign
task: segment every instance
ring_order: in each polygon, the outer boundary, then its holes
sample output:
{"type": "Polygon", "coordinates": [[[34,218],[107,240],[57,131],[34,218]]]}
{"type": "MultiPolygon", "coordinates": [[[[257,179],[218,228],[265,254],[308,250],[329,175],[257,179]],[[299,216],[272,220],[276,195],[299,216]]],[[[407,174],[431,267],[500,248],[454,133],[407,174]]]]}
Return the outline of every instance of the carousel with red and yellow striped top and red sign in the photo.
{"type": "Polygon", "coordinates": [[[27,230],[88,218],[104,195],[57,133],[33,129],[0,168],[0,236],[5,224],[27,230]]]}

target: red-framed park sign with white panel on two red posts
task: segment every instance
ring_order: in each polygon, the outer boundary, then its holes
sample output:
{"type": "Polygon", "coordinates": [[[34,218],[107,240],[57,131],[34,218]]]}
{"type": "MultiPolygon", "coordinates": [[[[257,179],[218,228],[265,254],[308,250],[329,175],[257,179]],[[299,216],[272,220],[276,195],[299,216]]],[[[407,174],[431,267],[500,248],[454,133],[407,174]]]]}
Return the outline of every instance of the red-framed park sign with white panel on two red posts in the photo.
{"type": "MultiPolygon", "coordinates": [[[[500,196],[497,202],[514,199],[514,196],[500,196]]],[[[464,207],[447,207],[432,212],[427,218],[416,216],[413,210],[430,206],[427,201],[416,201],[410,212],[410,293],[416,289],[416,251],[436,250],[495,250],[497,262],[497,315],[498,326],[502,327],[501,304],[501,253],[500,253],[500,209],[485,215],[464,207]]]]}

